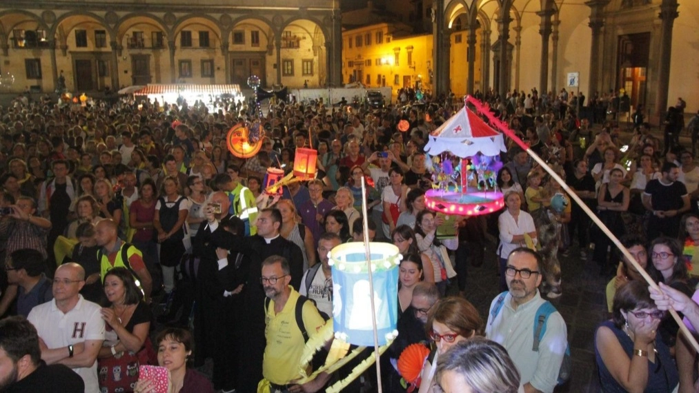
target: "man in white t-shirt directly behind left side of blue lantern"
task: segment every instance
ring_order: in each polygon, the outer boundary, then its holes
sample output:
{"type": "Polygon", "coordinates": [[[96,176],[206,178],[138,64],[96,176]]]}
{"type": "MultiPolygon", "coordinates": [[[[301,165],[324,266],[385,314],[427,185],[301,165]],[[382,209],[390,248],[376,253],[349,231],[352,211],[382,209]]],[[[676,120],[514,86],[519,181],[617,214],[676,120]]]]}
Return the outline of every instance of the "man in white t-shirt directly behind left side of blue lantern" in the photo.
{"type": "Polygon", "coordinates": [[[342,244],[342,239],[332,232],[325,232],[318,240],[320,263],[306,270],[301,279],[301,295],[315,302],[315,306],[324,317],[333,315],[333,274],[329,265],[329,253],[342,244]]]}

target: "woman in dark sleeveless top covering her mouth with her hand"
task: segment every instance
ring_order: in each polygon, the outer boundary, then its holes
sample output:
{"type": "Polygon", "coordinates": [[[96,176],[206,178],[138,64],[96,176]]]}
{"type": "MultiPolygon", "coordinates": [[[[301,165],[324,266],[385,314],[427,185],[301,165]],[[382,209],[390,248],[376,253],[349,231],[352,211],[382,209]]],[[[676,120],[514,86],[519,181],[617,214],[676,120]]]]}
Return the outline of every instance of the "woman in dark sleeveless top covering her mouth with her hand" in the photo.
{"type": "Polygon", "coordinates": [[[679,383],[670,348],[657,334],[658,310],[644,281],[630,281],[614,295],[612,319],[595,334],[603,392],[672,392],[679,383]]]}

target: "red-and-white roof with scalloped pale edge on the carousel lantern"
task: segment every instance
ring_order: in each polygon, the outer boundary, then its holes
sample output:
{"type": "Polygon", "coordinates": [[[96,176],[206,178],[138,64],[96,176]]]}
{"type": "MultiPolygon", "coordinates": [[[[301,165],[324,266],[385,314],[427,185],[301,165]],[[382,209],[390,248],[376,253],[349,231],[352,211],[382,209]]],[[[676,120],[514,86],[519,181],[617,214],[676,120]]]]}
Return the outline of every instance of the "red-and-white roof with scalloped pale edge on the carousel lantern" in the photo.
{"type": "Polygon", "coordinates": [[[429,135],[425,151],[432,156],[449,151],[466,158],[478,152],[497,156],[507,149],[503,134],[488,126],[465,106],[429,135]]]}

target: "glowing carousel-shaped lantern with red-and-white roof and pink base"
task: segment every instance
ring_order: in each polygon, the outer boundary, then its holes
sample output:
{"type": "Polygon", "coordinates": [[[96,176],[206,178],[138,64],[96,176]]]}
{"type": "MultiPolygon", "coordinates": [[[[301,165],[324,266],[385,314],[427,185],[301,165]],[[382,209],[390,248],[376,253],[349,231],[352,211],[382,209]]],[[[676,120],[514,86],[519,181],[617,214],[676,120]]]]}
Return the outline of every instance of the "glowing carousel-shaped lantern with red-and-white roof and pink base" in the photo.
{"type": "Polygon", "coordinates": [[[496,185],[503,135],[464,106],[429,135],[425,146],[432,189],[426,206],[436,212],[475,216],[505,206],[496,185]]]}

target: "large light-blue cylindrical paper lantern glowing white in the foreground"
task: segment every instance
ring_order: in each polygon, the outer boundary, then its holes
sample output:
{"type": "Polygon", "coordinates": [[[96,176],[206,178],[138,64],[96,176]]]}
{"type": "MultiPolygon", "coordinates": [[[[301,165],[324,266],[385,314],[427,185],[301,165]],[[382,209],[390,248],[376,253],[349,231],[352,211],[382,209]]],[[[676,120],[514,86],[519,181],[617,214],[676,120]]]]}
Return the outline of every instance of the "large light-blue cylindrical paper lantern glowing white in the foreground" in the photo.
{"type": "MultiPolygon", "coordinates": [[[[396,334],[398,265],[402,255],[388,243],[370,243],[375,320],[379,345],[396,334]]],[[[368,264],[364,244],[345,243],[330,252],[335,336],[357,346],[373,346],[368,264]]]]}

